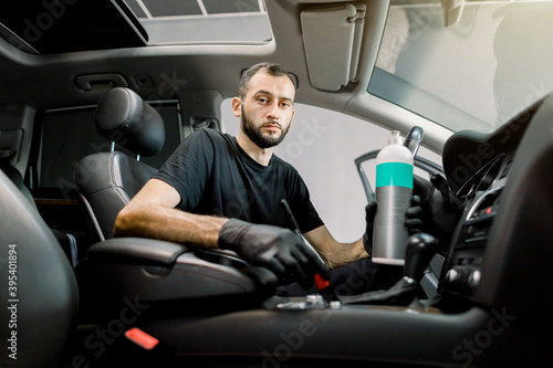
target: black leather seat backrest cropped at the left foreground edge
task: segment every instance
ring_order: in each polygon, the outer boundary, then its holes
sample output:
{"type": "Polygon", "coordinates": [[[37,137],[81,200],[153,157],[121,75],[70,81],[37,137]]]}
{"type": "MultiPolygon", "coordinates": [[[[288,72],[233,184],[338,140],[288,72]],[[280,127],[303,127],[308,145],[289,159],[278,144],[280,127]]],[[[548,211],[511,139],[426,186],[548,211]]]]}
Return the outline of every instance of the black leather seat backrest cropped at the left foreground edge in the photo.
{"type": "Polygon", "coordinates": [[[0,367],[55,367],[76,333],[75,275],[36,208],[2,170],[0,271],[0,367]]]}

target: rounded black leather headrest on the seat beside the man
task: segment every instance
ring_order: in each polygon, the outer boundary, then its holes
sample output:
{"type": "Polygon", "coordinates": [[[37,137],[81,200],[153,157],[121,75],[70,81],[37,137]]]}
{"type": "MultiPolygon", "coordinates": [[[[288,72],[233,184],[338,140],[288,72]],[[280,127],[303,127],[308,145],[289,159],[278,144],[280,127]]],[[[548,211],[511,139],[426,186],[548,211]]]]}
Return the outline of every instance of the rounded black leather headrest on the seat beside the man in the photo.
{"type": "Polygon", "coordinates": [[[165,143],[159,113],[129,88],[107,92],[96,108],[97,132],[135,155],[157,154],[165,143]]]}

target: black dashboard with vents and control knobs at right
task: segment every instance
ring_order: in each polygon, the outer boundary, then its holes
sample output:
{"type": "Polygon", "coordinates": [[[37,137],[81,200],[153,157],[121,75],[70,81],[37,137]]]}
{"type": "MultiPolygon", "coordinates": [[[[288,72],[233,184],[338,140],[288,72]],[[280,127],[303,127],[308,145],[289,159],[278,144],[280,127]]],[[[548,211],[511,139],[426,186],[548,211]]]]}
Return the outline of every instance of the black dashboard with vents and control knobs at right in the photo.
{"type": "Polygon", "coordinates": [[[465,204],[441,269],[444,297],[521,311],[536,302],[533,267],[553,244],[546,105],[538,102],[493,133],[459,132],[446,143],[445,174],[465,204]]]}

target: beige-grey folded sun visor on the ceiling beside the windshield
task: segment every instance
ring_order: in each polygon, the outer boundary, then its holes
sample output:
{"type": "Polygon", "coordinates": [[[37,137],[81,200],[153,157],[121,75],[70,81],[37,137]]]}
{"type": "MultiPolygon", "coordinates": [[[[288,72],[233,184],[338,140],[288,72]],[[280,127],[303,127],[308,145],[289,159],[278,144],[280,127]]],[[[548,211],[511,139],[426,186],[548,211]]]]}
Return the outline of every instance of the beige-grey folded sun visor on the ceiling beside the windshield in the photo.
{"type": "Polygon", "coordinates": [[[365,14],[362,2],[302,11],[303,45],[315,88],[338,91],[355,82],[365,14]]]}

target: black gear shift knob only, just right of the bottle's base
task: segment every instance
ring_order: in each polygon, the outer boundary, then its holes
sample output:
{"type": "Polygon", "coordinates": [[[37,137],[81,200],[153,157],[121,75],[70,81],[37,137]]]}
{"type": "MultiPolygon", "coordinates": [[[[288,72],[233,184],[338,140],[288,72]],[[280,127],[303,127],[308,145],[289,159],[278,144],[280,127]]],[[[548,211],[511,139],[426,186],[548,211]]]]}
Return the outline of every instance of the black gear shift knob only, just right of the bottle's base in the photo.
{"type": "Polygon", "coordinates": [[[427,233],[411,235],[407,240],[405,250],[404,276],[419,282],[438,246],[439,241],[436,236],[427,233]]]}

